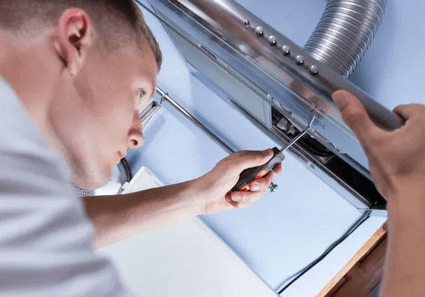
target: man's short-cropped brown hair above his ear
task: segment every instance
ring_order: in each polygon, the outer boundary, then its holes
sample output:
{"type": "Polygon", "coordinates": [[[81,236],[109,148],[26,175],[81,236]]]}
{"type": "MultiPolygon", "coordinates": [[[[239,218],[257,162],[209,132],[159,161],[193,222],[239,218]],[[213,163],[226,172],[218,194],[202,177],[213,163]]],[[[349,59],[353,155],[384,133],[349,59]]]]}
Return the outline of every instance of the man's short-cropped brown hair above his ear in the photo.
{"type": "Polygon", "coordinates": [[[161,68],[162,55],[140,9],[133,0],[0,0],[0,27],[10,30],[36,30],[55,25],[68,8],[88,13],[100,48],[115,50],[138,44],[144,36],[161,68]]]}

